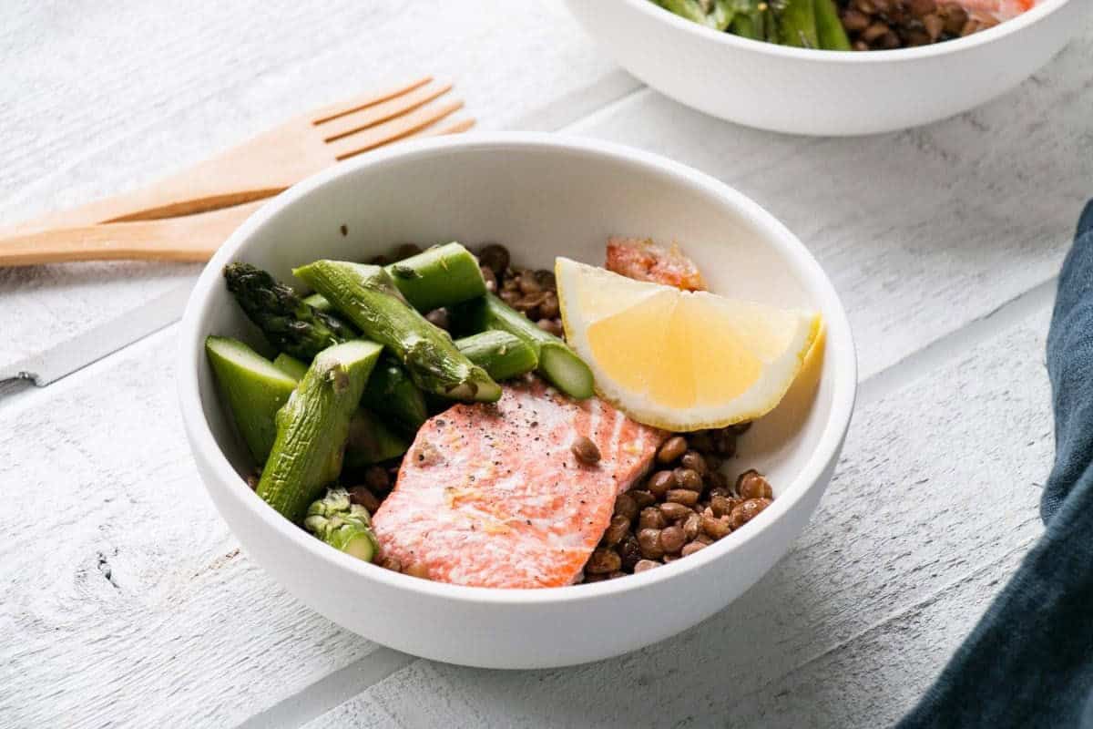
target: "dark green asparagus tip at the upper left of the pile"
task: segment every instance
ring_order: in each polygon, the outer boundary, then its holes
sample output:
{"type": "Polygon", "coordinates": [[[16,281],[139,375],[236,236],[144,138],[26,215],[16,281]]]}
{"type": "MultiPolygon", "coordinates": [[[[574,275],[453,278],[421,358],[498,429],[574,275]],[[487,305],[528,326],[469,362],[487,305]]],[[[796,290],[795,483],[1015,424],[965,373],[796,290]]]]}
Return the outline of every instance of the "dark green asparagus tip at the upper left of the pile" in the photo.
{"type": "Polygon", "coordinates": [[[249,263],[228,263],[224,278],[247,317],[277,349],[294,357],[310,360],[356,336],[337,317],[308,306],[291,286],[249,263]]]}

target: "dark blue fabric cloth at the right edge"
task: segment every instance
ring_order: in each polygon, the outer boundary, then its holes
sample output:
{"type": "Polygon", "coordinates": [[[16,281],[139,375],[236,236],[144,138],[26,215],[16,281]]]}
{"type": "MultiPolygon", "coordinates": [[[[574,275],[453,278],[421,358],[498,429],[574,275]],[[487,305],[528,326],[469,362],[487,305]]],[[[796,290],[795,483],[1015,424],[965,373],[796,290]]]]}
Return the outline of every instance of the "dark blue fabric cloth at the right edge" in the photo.
{"type": "Polygon", "coordinates": [[[1093,201],[1059,275],[1047,372],[1045,532],[900,729],[1093,729],[1093,201]]]}

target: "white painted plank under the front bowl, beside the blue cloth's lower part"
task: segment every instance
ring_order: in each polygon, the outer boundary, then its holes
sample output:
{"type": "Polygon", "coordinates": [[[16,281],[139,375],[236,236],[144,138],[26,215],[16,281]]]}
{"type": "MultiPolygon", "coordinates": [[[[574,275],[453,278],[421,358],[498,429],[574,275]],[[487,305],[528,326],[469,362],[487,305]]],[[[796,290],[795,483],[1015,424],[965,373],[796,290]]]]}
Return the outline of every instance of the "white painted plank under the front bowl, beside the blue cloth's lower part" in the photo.
{"type": "Polygon", "coordinates": [[[807,698],[841,693],[851,698],[830,716],[847,721],[814,726],[870,726],[855,712],[882,699],[862,684],[863,672],[823,668],[879,666],[913,652],[898,673],[913,689],[885,707],[897,715],[985,608],[982,586],[1004,581],[1042,530],[1038,486],[1053,455],[1046,315],[1042,308],[863,402],[838,473],[794,550],[698,627],[572,669],[500,672],[421,660],[310,726],[434,726],[445,717],[512,727],[813,726],[792,724],[807,714],[807,698]],[[877,637],[916,615],[926,616],[914,642],[877,637]],[[783,690],[804,696],[787,707],[787,722],[767,695],[783,690]]]}

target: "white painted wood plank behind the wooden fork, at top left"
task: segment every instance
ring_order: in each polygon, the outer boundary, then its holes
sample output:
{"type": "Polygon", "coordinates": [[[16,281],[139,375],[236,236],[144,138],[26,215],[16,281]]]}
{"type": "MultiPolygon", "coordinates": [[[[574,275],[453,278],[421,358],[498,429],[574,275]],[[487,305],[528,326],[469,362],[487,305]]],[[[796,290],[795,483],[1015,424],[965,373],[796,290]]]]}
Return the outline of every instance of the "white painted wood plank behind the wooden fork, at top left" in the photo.
{"type": "MultiPolygon", "coordinates": [[[[185,11],[138,0],[0,3],[0,227],[151,181],[289,116],[420,73],[455,81],[482,129],[567,122],[569,106],[583,114],[638,87],[559,0],[518,11],[491,0],[247,0],[185,11]]],[[[0,270],[0,367],[198,270],[0,270]]]]}

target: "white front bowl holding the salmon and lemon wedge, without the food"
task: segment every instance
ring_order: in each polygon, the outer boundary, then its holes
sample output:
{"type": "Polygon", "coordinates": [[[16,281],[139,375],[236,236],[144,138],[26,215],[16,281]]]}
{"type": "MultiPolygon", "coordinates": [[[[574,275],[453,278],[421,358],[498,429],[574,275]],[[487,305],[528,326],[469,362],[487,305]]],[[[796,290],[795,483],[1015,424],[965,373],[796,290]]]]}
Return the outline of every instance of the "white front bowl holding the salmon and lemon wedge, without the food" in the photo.
{"type": "MultiPolygon", "coordinates": [[[[803,245],[743,195],[650,154],[542,134],[407,143],[363,155],[267,203],[198,280],[183,321],[183,418],[209,494],[247,554],[301,601],[378,643],[496,668],[607,658],[720,610],[789,549],[831,478],[850,421],[856,363],[846,315],[803,245]],[[340,226],[345,225],[348,235],[340,226]],[[281,518],[240,478],[250,468],[218,401],[208,334],[257,342],[221,278],[244,260],[292,280],[316,258],[366,259],[395,243],[504,242],[516,261],[601,262],[609,234],[682,242],[715,291],[823,311],[822,371],[741,439],[731,468],[768,473],[774,504],[702,552],[606,583],[540,590],[414,579],[330,549],[281,518]]],[[[819,368],[818,368],[819,369],[819,368]]]]}

